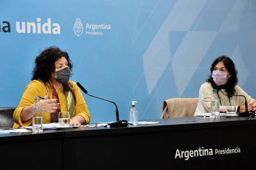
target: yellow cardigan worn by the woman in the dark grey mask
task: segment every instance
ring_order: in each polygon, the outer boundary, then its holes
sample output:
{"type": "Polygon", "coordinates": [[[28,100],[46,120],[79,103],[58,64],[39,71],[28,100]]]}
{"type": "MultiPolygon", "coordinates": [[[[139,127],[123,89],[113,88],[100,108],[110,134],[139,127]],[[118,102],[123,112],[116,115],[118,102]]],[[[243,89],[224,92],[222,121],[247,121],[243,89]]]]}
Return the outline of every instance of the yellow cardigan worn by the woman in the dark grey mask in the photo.
{"type": "MultiPolygon", "coordinates": [[[[79,87],[76,85],[74,81],[69,81],[69,83],[74,88],[76,94],[76,105],[75,105],[75,116],[80,115],[85,120],[86,123],[90,122],[90,113],[86,104],[86,101],[83,98],[79,87]]],[[[23,92],[22,98],[20,100],[20,104],[17,106],[16,110],[14,111],[14,125],[13,128],[20,128],[21,126],[26,127],[32,125],[32,119],[26,122],[21,122],[21,111],[22,109],[26,108],[29,105],[32,105],[35,102],[35,97],[41,96],[44,97],[46,93],[49,94],[49,99],[52,98],[51,90],[47,91],[47,88],[41,80],[33,80],[31,83],[28,84],[25,91],[23,92]]],[[[67,111],[67,104],[66,104],[66,96],[63,92],[63,87],[58,91],[60,110],[67,111]]],[[[44,113],[44,123],[51,123],[51,113],[45,112],[44,113]]]]}

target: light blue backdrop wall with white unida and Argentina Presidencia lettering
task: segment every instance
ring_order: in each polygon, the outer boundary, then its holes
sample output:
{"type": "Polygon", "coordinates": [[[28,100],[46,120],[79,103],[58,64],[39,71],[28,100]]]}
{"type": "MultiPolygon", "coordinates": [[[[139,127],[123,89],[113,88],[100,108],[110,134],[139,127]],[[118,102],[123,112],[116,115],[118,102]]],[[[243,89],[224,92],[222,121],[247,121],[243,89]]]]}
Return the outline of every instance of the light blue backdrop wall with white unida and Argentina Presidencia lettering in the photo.
{"type": "MultiPolygon", "coordinates": [[[[69,53],[71,80],[115,102],[129,120],[160,118],[163,100],[198,97],[215,58],[236,64],[239,86],[255,86],[256,1],[27,0],[0,2],[0,106],[17,106],[35,56],[69,53]]],[[[115,121],[112,103],[84,94],[92,122],[115,121]]]]}

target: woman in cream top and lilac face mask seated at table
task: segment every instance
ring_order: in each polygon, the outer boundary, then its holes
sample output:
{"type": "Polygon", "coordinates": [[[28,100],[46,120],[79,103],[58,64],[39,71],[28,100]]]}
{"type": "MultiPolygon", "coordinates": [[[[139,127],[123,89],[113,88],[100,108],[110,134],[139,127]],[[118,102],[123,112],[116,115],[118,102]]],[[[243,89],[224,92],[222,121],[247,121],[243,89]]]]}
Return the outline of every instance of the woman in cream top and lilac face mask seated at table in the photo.
{"type": "Polygon", "coordinates": [[[245,98],[241,96],[232,95],[242,95],[246,97],[248,110],[256,110],[256,101],[245,91],[237,85],[237,71],[234,62],[225,55],[219,56],[211,65],[211,75],[209,79],[201,85],[199,90],[199,100],[195,116],[197,114],[209,113],[211,112],[211,97],[212,91],[215,86],[220,87],[222,92],[218,91],[218,97],[220,98],[220,111],[226,111],[226,104],[232,100],[236,104],[237,112],[245,112],[245,98]],[[228,96],[226,96],[228,95],[228,96]]]}

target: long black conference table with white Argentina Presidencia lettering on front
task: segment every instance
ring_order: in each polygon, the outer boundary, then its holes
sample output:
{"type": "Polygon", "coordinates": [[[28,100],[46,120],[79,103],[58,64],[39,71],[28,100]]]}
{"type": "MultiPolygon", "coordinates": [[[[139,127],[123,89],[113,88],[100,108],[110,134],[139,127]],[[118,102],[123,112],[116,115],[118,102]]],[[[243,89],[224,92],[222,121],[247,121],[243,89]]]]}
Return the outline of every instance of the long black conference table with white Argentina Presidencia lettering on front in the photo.
{"type": "Polygon", "coordinates": [[[0,134],[0,169],[249,169],[256,119],[181,117],[127,128],[0,134]]]}

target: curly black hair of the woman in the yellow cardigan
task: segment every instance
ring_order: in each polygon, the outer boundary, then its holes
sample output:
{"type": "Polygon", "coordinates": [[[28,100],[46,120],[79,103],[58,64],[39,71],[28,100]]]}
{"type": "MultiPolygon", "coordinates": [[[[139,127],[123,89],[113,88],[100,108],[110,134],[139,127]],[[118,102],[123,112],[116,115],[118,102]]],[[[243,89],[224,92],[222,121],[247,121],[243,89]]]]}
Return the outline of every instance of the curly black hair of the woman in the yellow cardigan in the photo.
{"type": "Polygon", "coordinates": [[[69,54],[65,51],[61,51],[57,46],[51,46],[36,56],[35,66],[32,71],[31,80],[40,79],[44,84],[49,81],[51,74],[55,71],[54,62],[65,56],[68,61],[68,66],[72,72],[72,61],[69,58],[69,54]]]}

